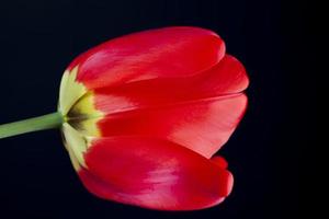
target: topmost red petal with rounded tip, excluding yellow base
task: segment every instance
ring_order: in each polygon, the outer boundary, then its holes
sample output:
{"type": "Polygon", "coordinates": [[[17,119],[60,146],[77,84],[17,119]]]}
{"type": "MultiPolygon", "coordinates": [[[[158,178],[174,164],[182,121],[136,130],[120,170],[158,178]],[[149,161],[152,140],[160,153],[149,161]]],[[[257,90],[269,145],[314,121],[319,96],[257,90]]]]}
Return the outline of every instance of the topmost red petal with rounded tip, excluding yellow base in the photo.
{"type": "Polygon", "coordinates": [[[167,27],[109,41],[77,57],[78,81],[89,89],[127,81],[192,76],[216,65],[225,54],[215,33],[197,27],[167,27]]]}

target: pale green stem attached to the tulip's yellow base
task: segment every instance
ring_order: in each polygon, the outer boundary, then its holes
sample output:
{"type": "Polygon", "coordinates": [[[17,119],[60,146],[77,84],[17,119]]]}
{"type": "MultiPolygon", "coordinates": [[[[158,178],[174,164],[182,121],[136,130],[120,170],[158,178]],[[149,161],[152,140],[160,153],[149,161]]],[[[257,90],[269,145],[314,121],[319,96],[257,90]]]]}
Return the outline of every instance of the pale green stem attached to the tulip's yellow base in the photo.
{"type": "Polygon", "coordinates": [[[0,139],[21,134],[60,127],[64,117],[59,112],[0,125],[0,139]]]}

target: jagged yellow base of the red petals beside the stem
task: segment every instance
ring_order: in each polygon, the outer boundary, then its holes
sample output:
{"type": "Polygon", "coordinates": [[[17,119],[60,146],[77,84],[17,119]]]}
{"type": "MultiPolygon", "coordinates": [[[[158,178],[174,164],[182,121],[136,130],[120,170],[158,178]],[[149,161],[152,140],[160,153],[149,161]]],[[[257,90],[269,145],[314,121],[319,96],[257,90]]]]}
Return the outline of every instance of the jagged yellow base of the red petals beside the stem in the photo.
{"type": "Polygon", "coordinates": [[[78,66],[64,72],[58,111],[63,114],[63,138],[73,168],[87,168],[83,153],[94,137],[100,137],[98,122],[103,113],[94,106],[94,95],[83,83],[77,82],[78,66]]]}

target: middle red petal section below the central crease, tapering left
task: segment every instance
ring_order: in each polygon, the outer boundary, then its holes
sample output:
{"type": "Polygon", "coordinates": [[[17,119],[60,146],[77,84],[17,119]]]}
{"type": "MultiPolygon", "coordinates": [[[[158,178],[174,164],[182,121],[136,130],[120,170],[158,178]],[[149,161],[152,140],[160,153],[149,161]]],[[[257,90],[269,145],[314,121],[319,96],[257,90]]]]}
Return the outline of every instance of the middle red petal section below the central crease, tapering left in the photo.
{"type": "Polygon", "coordinates": [[[111,114],[98,126],[102,136],[150,136],[211,158],[229,138],[247,106],[245,94],[111,114]]]}

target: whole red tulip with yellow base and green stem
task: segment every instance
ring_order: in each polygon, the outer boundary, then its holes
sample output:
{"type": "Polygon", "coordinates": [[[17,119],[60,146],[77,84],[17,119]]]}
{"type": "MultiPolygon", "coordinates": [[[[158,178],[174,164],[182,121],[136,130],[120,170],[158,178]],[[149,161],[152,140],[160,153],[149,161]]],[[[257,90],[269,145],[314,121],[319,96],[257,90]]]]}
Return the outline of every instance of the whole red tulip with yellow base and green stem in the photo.
{"type": "Polygon", "coordinates": [[[232,174],[216,152],[243,116],[243,66],[198,27],[122,36],[66,69],[54,114],[0,126],[0,138],[59,127],[98,197],[160,210],[222,203],[232,174]]]}

